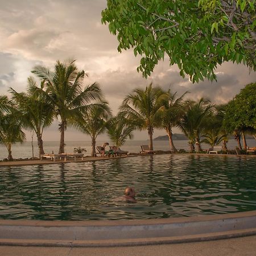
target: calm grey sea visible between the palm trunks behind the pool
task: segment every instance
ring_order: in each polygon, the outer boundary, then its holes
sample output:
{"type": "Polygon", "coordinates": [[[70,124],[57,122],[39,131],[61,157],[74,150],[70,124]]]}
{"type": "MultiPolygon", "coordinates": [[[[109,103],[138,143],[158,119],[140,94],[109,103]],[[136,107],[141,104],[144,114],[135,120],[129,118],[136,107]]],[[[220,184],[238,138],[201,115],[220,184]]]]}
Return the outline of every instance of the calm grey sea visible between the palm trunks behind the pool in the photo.
{"type": "MultiPolygon", "coordinates": [[[[97,141],[96,146],[101,146],[104,142],[108,141],[97,141]]],[[[255,139],[247,139],[247,146],[255,147],[255,139]]],[[[66,141],[65,142],[65,152],[73,153],[74,148],[81,147],[86,148],[84,155],[90,155],[91,152],[91,142],[90,141],[66,141]]],[[[126,150],[129,152],[139,152],[141,151],[141,145],[148,144],[148,141],[127,141],[122,147],[121,150],[126,150]]],[[[109,141],[109,145],[112,145],[112,142],[109,141]]],[[[174,145],[179,149],[189,150],[188,141],[174,141],[174,145]]],[[[153,141],[154,150],[170,150],[169,141],[153,141]]],[[[210,146],[208,144],[202,144],[203,149],[207,150],[210,146]]],[[[228,149],[234,150],[237,147],[237,142],[233,139],[230,139],[228,142],[228,149]]],[[[106,147],[108,149],[108,146],[106,147]]],[[[59,152],[59,141],[46,141],[44,142],[44,152],[45,153],[55,153],[59,152]]],[[[26,159],[32,158],[32,156],[39,157],[38,145],[34,142],[23,142],[22,144],[17,143],[12,146],[12,155],[14,159],[26,159]]],[[[0,160],[7,158],[7,149],[5,146],[0,145],[0,160]]]]}

